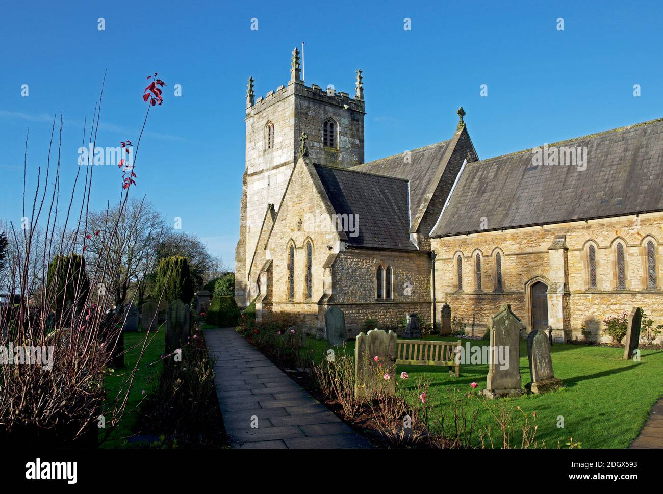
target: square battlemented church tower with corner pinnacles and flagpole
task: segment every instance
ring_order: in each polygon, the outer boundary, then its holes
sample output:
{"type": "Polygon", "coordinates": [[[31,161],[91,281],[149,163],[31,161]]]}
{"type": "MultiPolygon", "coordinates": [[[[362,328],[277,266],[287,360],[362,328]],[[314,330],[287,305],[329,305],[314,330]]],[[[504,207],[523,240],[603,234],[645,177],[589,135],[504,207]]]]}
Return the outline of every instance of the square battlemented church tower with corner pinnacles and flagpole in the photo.
{"type": "MultiPolygon", "coordinates": [[[[290,81],[255,99],[253,78],[247,86],[246,167],[235,248],[235,300],[245,307],[255,298],[256,279],[249,279],[251,260],[269,204],[277,209],[294,168],[302,132],[313,162],[354,166],[364,162],[364,94],[361,70],[355,95],[306,86],[300,53],[292,51],[290,81]]],[[[253,278],[251,273],[251,278],[253,278]]]]}

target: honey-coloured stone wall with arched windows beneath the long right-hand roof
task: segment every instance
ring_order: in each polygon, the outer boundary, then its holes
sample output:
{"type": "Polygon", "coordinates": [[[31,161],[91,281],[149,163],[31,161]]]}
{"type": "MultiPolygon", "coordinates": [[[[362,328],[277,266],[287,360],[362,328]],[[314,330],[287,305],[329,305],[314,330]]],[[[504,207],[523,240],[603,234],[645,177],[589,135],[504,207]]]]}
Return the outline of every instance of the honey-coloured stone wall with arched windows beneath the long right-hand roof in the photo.
{"type": "MultiPolygon", "coordinates": [[[[581,326],[593,332],[593,338],[607,340],[603,335],[603,320],[619,316],[623,310],[640,306],[654,320],[663,324],[663,214],[577,221],[512,229],[504,232],[486,231],[471,235],[432,239],[436,259],[436,297],[438,311],[447,302],[453,315],[463,317],[480,332],[487,326],[487,318],[495,314],[503,303],[511,304],[513,312],[523,324],[532,328],[528,288],[542,280],[549,286],[549,320],[551,297],[559,294],[560,311],[568,338],[583,339],[581,326]],[[549,250],[556,237],[564,236],[566,259],[549,250]],[[646,243],[656,245],[657,287],[646,288],[646,243]],[[626,257],[627,289],[617,290],[617,242],[623,242],[626,257]],[[589,288],[587,249],[596,249],[597,287],[589,288]],[[501,253],[503,292],[495,291],[495,254],[501,253]],[[457,255],[463,256],[463,290],[458,290],[457,255]],[[475,290],[475,256],[481,254],[481,292],[475,290]],[[566,265],[566,267],[565,267],[566,265]],[[551,269],[551,266],[553,269],[551,269]],[[564,279],[566,286],[556,280],[564,279]],[[561,276],[561,278],[560,278],[561,276]],[[554,290],[551,290],[554,288],[554,290]],[[555,292],[555,293],[553,293],[555,292]]],[[[439,314],[439,312],[438,312],[439,314]]],[[[438,315],[439,318],[439,315],[438,315]]],[[[559,328],[562,329],[562,328],[559,328]]],[[[659,337],[659,339],[661,339],[659,337]]]]}

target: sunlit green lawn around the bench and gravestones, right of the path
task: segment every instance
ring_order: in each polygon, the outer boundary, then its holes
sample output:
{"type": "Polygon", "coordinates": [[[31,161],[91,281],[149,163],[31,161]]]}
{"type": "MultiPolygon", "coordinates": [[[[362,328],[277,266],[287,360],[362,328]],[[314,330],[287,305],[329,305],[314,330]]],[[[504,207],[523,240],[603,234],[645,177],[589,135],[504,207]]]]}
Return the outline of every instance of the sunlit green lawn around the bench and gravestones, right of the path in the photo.
{"type": "MultiPolygon", "coordinates": [[[[455,341],[457,338],[433,336],[426,340],[455,341]]],[[[471,345],[488,345],[484,340],[462,340],[471,345]]],[[[346,351],[354,354],[354,341],[346,351]]],[[[322,359],[328,343],[308,338],[306,348],[313,350],[316,360],[322,359]]],[[[556,448],[570,437],[582,443],[583,448],[626,448],[636,438],[651,406],[663,395],[663,350],[642,350],[642,359],[623,360],[623,349],[585,345],[552,346],[555,377],[564,381],[564,389],[548,395],[530,395],[521,399],[505,399],[517,404],[538,425],[536,439],[544,440],[547,448],[556,448]],[[564,416],[564,428],[558,428],[558,416],[564,416]]],[[[444,366],[399,365],[396,375],[407,371],[408,387],[414,379],[426,376],[432,379],[428,399],[438,410],[450,404],[452,393],[471,391],[470,383],[477,383],[476,391],[485,388],[488,365],[461,365],[460,377],[450,377],[444,366]]],[[[531,381],[527,362],[526,342],[520,342],[520,376],[522,385],[531,381]]],[[[497,424],[479,401],[479,425],[497,424]]],[[[519,412],[518,412],[519,414],[519,412]]],[[[520,420],[519,416],[514,417],[520,420]]],[[[521,420],[522,422],[522,420],[521,420]]],[[[530,419],[530,423],[532,420],[530,419]]],[[[477,427],[475,427],[475,431],[477,427]]],[[[501,446],[501,436],[493,441],[501,446]]],[[[474,434],[479,444],[478,434],[474,434]]],[[[514,433],[514,444],[520,444],[520,427],[514,433]]]]}

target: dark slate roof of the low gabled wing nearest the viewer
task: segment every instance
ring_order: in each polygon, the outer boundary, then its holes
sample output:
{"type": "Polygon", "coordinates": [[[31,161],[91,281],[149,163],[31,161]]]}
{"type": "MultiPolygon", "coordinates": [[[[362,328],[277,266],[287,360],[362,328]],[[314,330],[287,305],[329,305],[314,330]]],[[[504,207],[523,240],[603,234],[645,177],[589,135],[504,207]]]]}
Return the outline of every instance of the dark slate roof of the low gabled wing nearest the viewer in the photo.
{"type": "Polygon", "coordinates": [[[359,234],[351,237],[345,232],[349,245],[417,250],[408,233],[407,180],[322,164],[314,168],[334,212],[358,217],[359,234]]]}

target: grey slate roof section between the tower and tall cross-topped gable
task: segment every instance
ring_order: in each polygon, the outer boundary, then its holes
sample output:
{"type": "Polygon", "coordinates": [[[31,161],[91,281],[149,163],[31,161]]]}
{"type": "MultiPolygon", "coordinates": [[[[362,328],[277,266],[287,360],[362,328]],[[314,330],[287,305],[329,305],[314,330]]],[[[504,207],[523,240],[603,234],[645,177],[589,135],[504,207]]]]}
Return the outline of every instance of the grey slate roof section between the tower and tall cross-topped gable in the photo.
{"type": "Polygon", "coordinates": [[[419,208],[424,204],[430,183],[442,176],[443,170],[440,170],[439,166],[451,141],[450,139],[449,141],[413,149],[410,151],[410,162],[405,161],[405,153],[400,153],[355,165],[351,167],[351,170],[409,180],[410,217],[414,218],[419,208]]]}

